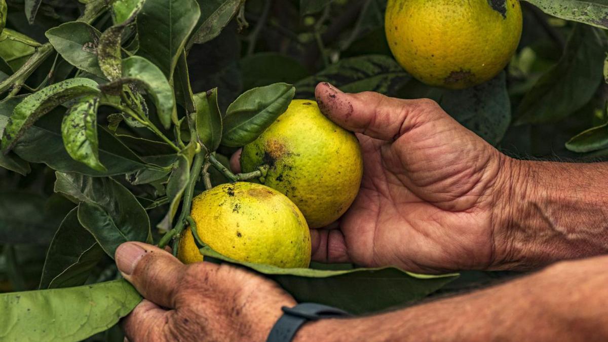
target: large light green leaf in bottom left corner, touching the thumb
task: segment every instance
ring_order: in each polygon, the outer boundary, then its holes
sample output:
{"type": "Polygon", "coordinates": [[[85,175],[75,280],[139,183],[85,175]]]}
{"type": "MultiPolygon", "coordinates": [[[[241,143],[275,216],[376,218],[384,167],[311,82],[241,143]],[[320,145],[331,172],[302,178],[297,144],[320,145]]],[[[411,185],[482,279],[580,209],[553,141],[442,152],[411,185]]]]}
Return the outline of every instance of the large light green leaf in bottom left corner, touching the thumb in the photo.
{"type": "Polygon", "coordinates": [[[125,280],[0,295],[0,340],[80,341],[114,326],[141,296],[125,280]]]}

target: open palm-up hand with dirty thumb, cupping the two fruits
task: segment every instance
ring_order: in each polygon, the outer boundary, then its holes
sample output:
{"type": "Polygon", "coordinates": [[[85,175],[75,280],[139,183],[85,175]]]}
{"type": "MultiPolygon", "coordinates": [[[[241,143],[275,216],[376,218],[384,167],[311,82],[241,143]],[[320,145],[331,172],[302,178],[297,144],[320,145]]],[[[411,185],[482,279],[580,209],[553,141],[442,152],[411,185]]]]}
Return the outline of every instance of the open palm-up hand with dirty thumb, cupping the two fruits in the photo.
{"type": "MultiPolygon", "coordinates": [[[[364,177],[348,212],[311,231],[313,259],[437,272],[500,268],[497,213],[514,161],[432,100],[316,89],[323,113],[358,132],[364,177]]],[[[501,201],[503,200],[503,201],[501,201]]]]}

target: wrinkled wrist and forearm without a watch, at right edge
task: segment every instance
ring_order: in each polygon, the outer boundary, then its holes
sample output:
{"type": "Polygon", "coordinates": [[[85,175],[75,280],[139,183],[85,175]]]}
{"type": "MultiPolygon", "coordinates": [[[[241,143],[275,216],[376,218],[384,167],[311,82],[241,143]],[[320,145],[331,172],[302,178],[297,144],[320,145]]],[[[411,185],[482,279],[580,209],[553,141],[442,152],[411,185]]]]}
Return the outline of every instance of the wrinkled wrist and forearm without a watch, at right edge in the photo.
{"type": "Polygon", "coordinates": [[[608,163],[511,159],[508,203],[498,206],[499,269],[526,269],[608,253],[608,163]]]}

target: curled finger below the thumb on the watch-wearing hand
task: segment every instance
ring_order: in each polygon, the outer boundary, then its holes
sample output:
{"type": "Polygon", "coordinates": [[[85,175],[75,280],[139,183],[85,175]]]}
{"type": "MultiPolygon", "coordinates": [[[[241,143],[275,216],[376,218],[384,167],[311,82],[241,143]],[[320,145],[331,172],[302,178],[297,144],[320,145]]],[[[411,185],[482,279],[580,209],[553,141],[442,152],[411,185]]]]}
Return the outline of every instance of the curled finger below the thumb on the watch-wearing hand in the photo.
{"type": "Polygon", "coordinates": [[[167,322],[169,311],[143,299],[122,321],[125,338],[131,342],[154,341],[167,322]]]}

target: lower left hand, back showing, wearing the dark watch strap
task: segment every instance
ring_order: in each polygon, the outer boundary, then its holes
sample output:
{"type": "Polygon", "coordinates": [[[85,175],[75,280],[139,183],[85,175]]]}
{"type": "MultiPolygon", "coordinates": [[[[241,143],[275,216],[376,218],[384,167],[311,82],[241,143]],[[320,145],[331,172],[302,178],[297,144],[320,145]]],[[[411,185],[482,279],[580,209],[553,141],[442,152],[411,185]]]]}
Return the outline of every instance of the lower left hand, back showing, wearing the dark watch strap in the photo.
{"type": "Polygon", "coordinates": [[[120,273],[145,298],[124,320],[137,341],[264,341],[294,299],[277,284],[241,268],[184,265],[139,242],[116,250],[120,273]]]}

